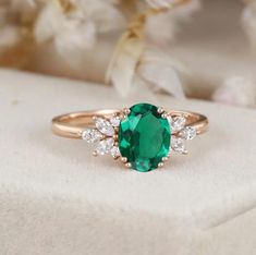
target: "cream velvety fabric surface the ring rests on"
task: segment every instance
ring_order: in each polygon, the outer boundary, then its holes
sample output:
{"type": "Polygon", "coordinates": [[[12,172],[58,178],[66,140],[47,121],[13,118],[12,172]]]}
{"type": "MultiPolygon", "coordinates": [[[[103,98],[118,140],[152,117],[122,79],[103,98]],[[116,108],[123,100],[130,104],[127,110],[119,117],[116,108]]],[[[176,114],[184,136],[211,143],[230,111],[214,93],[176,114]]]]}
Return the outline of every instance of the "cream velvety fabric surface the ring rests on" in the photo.
{"type": "Polygon", "coordinates": [[[0,254],[256,254],[256,112],[0,71],[0,254]],[[52,117],[149,101],[209,132],[149,173],[53,136],[52,117]]]}

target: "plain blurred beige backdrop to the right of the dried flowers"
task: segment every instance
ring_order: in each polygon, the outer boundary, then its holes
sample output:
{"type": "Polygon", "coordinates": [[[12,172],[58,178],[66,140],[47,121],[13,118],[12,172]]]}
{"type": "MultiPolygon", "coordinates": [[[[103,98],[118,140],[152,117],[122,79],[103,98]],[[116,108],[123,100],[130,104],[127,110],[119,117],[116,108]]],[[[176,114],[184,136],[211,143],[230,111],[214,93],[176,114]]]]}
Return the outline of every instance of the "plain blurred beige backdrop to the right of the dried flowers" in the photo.
{"type": "Polygon", "coordinates": [[[178,35],[170,52],[192,72],[186,84],[191,96],[209,98],[231,76],[255,81],[256,56],[243,29],[244,8],[242,0],[203,0],[202,11],[178,35]]]}

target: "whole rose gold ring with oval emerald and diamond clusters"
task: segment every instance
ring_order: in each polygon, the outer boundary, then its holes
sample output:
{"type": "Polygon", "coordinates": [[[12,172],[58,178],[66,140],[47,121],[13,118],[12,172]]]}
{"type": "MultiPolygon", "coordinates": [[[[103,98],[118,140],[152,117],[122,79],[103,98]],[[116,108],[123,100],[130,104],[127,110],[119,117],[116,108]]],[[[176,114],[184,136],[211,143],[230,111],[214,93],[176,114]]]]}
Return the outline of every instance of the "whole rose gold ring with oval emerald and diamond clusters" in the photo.
{"type": "Polygon", "coordinates": [[[172,154],[187,154],[185,141],[208,127],[205,116],[167,111],[149,104],[122,110],[74,112],[52,120],[54,134],[96,143],[94,156],[110,154],[125,167],[147,172],[163,167],[172,154]]]}

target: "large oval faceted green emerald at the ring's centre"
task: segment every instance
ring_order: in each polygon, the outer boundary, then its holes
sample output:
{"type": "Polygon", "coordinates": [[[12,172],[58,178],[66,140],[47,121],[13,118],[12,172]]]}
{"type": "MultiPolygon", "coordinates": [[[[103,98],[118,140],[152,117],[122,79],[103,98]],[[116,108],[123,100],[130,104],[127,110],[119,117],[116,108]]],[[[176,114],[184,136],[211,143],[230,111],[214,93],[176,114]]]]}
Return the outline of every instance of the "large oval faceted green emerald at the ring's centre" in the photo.
{"type": "Polygon", "coordinates": [[[119,127],[120,153],[133,169],[139,172],[154,170],[168,156],[170,124],[153,105],[138,104],[130,111],[119,127]]]}

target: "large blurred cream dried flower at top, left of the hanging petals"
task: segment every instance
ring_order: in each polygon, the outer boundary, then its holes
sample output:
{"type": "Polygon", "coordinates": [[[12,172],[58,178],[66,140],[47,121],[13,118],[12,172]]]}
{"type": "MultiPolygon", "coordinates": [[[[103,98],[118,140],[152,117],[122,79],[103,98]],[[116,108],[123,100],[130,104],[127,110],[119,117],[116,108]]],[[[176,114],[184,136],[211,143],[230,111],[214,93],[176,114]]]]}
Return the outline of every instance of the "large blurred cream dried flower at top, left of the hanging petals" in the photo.
{"type": "Polygon", "coordinates": [[[53,41],[57,52],[77,66],[84,52],[94,48],[97,34],[120,29],[124,17],[110,3],[99,0],[76,0],[66,11],[56,2],[48,2],[35,26],[37,42],[53,41]]]}

